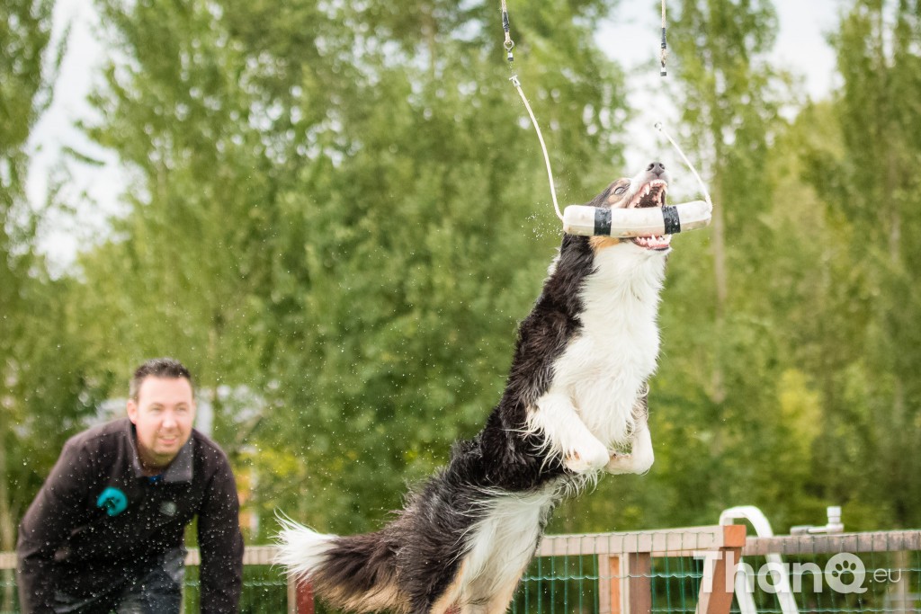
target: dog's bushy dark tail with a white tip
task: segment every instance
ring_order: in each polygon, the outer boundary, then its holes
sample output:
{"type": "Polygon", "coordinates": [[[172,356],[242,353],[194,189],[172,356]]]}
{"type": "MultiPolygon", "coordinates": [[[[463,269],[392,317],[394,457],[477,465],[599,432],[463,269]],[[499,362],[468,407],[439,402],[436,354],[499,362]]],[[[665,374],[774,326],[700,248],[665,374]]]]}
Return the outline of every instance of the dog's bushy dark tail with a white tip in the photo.
{"type": "Polygon", "coordinates": [[[406,598],[396,583],[395,550],[382,533],[349,537],[324,535],[278,518],[275,562],[309,582],[314,592],[337,608],[355,612],[403,611],[406,598]]]}

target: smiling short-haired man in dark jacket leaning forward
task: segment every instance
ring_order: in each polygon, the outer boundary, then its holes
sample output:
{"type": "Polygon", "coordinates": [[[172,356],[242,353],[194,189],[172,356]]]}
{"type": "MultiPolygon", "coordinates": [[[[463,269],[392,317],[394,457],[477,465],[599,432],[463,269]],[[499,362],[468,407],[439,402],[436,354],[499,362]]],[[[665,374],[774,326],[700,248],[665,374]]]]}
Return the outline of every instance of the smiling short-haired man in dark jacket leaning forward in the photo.
{"type": "Polygon", "coordinates": [[[192,377],[157,358],[137,368],[129,392],[127,418],[67,441],[19,525],[23,611],[178,614],[194,516],[201,611],[237,611],[237,486],[224,452],[192,429],[192,377]]]}

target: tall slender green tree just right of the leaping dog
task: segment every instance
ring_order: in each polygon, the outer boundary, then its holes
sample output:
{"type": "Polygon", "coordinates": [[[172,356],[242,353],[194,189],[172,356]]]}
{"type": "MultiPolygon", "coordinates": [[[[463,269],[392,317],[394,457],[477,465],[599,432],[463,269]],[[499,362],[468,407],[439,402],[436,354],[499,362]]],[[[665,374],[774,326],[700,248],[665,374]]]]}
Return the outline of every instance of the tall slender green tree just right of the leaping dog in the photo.
{"type": "Polygon", "coordinates": [[[687,510],[683,519],[695,512],[713,519],[740,500],[775,503],[775,475],[764,463],[781,441],[783,364],[764,279],[771,262],[765,252],[775,249],[766,223],[774,196],[769,144],[782,128],[783,75],[766,59],[777,28],[772,3],[679,6],[671,28],[679,104],[714,217],[709,245],[689,245],[670,271],[669,292],[681,298],[670,302],[667,293],[663,327],[675,330],[668,325],[681,322],[687,332],[666,346],[675,357],[661,365],[661,421],[675,437],[663,445],[670,449],[662,471],[670,483],[696,486],[681,491],[693,492],[690,500],[676,502],[687,510]]]}

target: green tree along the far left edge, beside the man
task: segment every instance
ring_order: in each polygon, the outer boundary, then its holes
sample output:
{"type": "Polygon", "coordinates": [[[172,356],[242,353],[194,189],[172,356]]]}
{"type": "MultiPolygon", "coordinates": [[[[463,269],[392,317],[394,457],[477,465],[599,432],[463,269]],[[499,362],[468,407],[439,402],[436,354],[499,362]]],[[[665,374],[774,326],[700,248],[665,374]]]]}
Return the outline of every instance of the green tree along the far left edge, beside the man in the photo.
{"type": "MultiPolygon", "coordinates": [[[[45,211],[26,199],[29,135],[52,98],[61,48],[50,45],[52,2],[0,7],[0,550],[16,526],[66,428],[94,408],[85,380],[68,283],[52,280],[36,250],[45,211]]],[[[53,203],[53,196],[49,197],[53,203]]],[[[11,575],[8,570],[5,574],[11,575]]],[[[5,585],[13,587],[12,578],[5,585]]],[[[0,608],[12,609],[8,588],[0,608]]]]}

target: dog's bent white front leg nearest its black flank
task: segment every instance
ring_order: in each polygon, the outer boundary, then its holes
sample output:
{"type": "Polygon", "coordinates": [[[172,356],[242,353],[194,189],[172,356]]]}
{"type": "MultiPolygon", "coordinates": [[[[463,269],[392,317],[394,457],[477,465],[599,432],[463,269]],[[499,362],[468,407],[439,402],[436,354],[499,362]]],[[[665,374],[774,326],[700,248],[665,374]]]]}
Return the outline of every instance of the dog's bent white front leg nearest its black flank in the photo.
{"type": "Polygon", "coordinates": [[[584,473],[601,469],[611,459],[607,446],[591,434],[568,395],[550,391],[528,414],[528,430],[542,434],[548,452],[562,458],[566,469],[584,473]]]}

